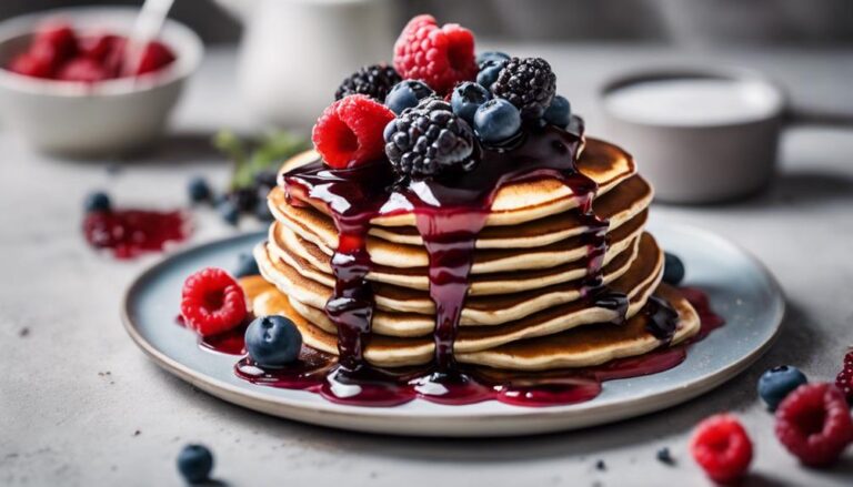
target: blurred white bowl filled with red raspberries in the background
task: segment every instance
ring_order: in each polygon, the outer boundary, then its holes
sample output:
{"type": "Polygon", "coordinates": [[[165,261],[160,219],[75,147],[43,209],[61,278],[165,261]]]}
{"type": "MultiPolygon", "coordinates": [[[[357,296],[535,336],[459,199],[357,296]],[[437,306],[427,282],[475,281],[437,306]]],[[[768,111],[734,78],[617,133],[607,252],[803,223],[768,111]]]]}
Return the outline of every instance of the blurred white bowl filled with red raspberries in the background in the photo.
{"type": "Polygon", "coordinates": [[[189,28],[167,20],[158,39],[128,55],[137,13],[70,8],[0,23],[3,123],[62,155],[118,155],[154,142],[203,47],[189,28]]]}

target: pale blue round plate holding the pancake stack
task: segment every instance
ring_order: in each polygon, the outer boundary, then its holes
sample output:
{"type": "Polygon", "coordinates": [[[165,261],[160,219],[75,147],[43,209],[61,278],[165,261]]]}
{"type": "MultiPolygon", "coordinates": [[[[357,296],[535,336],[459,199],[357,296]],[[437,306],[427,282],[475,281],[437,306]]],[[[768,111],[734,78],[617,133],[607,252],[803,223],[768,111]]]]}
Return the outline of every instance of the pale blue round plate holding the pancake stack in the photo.
{"type": "Polygon", "coordinates": [[[696,343],[679,366],[644,377],[610,381],[596,398],[570,406],[526,408],[498,402],[445,406],[413,400],[398,407],[344,406],[302,392],[238,378],[238,357],[202,351],[193,332],[175,325],[181,285],[204,266],[232,267],[264,234],[243,235],[173,255],[128,290],[124,325],[142,351],[170,373],[224,400],[304,423],[391,435],[509,436],[599,425],[663,409],[734,377],[776,337],[785,302],[775,280],[732,243],[688,226],[651,232],[688,270],[685,284],[705,290],[726,324],[696,343]]]}

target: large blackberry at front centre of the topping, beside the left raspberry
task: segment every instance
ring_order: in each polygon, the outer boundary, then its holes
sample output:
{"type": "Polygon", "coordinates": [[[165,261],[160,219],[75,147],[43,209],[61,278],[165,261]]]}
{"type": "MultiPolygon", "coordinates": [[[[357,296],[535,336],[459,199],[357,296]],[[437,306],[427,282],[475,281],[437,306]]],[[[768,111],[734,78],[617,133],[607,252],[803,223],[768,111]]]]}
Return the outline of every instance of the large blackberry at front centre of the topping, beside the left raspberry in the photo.
{"type": "Polygon", "coordinates": [[[385,128],[385,154],[403,177],[423,179],[471,168],[474,133],[438,97],[403,111],[385,128]]]}

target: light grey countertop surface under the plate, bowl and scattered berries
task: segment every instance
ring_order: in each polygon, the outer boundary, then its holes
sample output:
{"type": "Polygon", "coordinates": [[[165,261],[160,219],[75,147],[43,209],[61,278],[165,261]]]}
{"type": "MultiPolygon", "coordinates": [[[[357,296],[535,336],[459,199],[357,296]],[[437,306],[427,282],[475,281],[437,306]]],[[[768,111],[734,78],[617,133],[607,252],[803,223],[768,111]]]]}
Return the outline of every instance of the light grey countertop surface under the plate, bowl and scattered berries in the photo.
{"type": "MultiPolygon", "coordinates": [[[[593,93],[605,77],[672,62],[754,67],[780,80],[800,105],[853,113],[853,51],[509,49],[550,59],[561,91],[588,115],[593,133],[593,93]]],[[[92,252],[80,233],[81,201],[87,192],[107,187],[120,205],[174,207],[183,204],[191,174],[224,182],[228,166],[210,149],[210,134],[221,126],[253,125],[233,94],[232,63],[232,51],[209,53],[170,136],[155,152],[120,163],[118,172],[108,171],[116,161],[34,154],[0,131],[0,484],[180,485],[175,455],[183,444],[201,442],[217,455],[217,478],[235,486],[704,485],[686,442],[699,419],[720,410],[735,412],[754,440],[747,485],[853,483],[853,448],[832,470],[800,467],[775,440],[772,417],[754,392],[759,375],[776,364],[796,365],[815,381],[831,379],[853,343],[850,129],[790,130],[781,174],[756,199],[712,207],[655,205],[656,219],[705,227],[750,250],[789,296],[782,336],[771,352],[688,404],[550,436],[393,438],[244,410],[159,369],[126,335],[119,306],[127,285],[160,256],[117,262],[92,252]],[[662,447],[671,449],[675,466],[655,460],[662,447]],[[599,459],[604,469],[595,467],[599,459]]],[[[210,212],[199,212],[195,223],[191,244],[233,233],[210,212]]]]}

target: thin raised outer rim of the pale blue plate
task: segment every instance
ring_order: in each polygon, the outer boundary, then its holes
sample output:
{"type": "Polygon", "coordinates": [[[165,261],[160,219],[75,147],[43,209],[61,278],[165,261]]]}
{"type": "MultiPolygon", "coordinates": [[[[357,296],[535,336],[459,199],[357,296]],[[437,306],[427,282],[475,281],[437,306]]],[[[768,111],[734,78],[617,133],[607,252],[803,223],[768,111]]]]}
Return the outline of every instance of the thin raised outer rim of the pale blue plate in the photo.
{"type": "MultiPolygon", "coordinates": [[[[220,239],[220,240],[202,243],[189,248],[184,248],[184,250],[181,250],[180,252],[164,256],[159,262],[150,265],[149,267],[143,270],[124,291],[124,294],[122,297],[122,304],[121,304],[121,319],[122,319],[122,324],[126,332],[131,337],[133,343],[138,347],[140,347],[142,352],[145,355],[148,355],[159,367],[163,368],[170,374],[178,376],[179,378],[193,385],[194,387],[198,387],[215,397],[219,397],[220,399],[227,400],[229,403],[235,404],[241,407],[247,407],[249,409],[258,410],[258,412],[278,416],[278,417],[284,417],[293,420],[300,420],[304,423],[311,423],[311,424],[317,424],[321,426],[337,427],[337,428],[343,428],[343,429],[350,429],[350,430],[397,434],[397,435],[444,436],[444,437],[451,437],[451,436],[486,437],[486,436],[510,436],[510,435],[515,436],[515,435],[523,435],[523,434],[538,434],[538,433],[574,429],[580,427],[589,427],[589,426],[600,425],[604,423],[611,423],[613,420],[629,419],[629,418],[641,416],[655,410],[666,409],[666,408],[676,406],[679,404],[682,404],[701,394],[704,394],[705,392],[721,385],[722,383],[727,382],[735,375],[739,375],[741,372],[745,371],[750,365],[752,365],[755,361],[757,361],[775,343],[782,329],[782,324],[784,322],[784,317],[787,308],[787,300],[784,294],[784,291],[782,286],[779,284],[779,282],[776,281],[776,278],[773,276],[773,274],[770,272],[770,270],[766,267],[766,265],[764,265],[764,263],[761,262],[756,256],[754,256],[750,251],[743,248],[741,245],[716,233],[713,233],[704,229],[695,227],[689,224],[682,224],[682,223],[661,224],[659,221],[656,221],[650,224],[650,226],[651,227],[666,226],[666,227],[672,227],[676,230],[685,230],[685,231],[689,231],[691,234],[698,234],[702,239],[714,240],[720,244],[727,245],[736,250],[744,257],[746,257],[751,262],[751,264],[753,264],[756,267],[756,270],[761,273],[761,276],[763,277],[763,280],[770,286],[771,294],[775,302],[774,303],[775,305],[772,307],[772,310],[770,310],[771,319],[774,323],[773,325],[774,328],[773,328],[772,335],[761,346],[753,349],[747,355],[744,355],[739,361],[734,361],[727,364],[723,368],[720,368],[714,371],[713,373],[709,373],[703,376],[693,378],[686,383],[680,383],[678,386],[665,388],[663,390],[659,390],[650,395],[645,395],[645,396],[641,396],[641,397],[636,397],[628,400],[612,399],[611,402],[605,402],[605,403],[601,403],[601,402],[596,403],[595,400],[590,400],[586,403],[580,403],[580,404],[573,404],[573,405],[566,405],[566,406],[544,407],[544,408],[510,406],[511,408],[506,410],[479,412],[479,413],[472,413],[471,410],[465,410],[465,409],[460,410],[460,406],[443,406],[441,412],[436,413],[436,412],[418,412],[418,410],[411,410],[411,409],[405,409],[400,407],[363,407],[363,406],[353,406],[353,405],[341,405],[341,404],[334,404],[334,403],[309,404],[298,398],[271,396],[269,394],[264,394],[262,389],[259,389],[255,392],[244,387],[229,384],[220,378],[211,376],[210,374],[205,374],[201,371],[197,371],[190,366],[181,364],[179,361],[170,357],[162,351],[158,349],[153,344],[151,344],[145,337],[142,336],[142,334],[138,329],[138,326],[133,323],[133,319],[131,317],[131,312],[134,308],[132,302],[136,295],[139,294],[139,290],[148,281],[153,278],[159,271],[171,265],[173,261],[182,256],[185,256],[187,254],[190,254],[190,253],[208,250],[210,247],[215,247],[220,245],[227,245],[238,240],[243,240],[243,239],[249,240],[250,236],[258,236],[262,239],[265,235],[265,232],[260,232],[260,231],[252,232],[252,233],[242,233],[239,235],[220,239]],[[660,404],[661,400],[663,400],[665,404],[661,405],[660,404]],[[289,415],[282,414],[282,413],[285,413],[284,410],[282,410],[282,408],[285,408],[287,412],[290,412],[291,414],[289,415]],[[458,412],[458,413],[454,413],[454,412],[458,412]],[[595,413],[594,418],[588,418],[591,420],[580,420],[580,422],[571,420],[575,418],[578,415],[583,415],[584,413],[591,414],[591,412],[595,413]],[[303,416],[304,413],[321,415],[325,419],[329,419],[330,417],[338,417],[339,419],[343,419],[347,422],[352,422],[352,419],[358,419],[358,418],[375,422],[375,420],[388,419],[389,417],[392,417],[393,419],[414,419],[414,422],[412,422],[413,427],[411,428],[401,429],[399,427],[389,426],[385,429],[379,429],[375,426],[371,427],[371,424],[361,425],[358,422],[354,422],[353,424],[342,425],[342,424],[323,423],[322,420],[317,418],[312,419],[312,418],[305,418],[305,417],[297,417],[297,416],[303,416]],[[539,420],[555,422],[560,419],[563,420],[562,425],[555,425],[551,427],[549,426],[542,427],[542,425],[538,425],[539,427],[528,427],[528,428],[510,427],[510,428],[505,428],[506,430],[496,428],[492,432],[485,432],[485,433],[481,432],[476,427],[461,428],[461,429],[451,430],[451,432],[448,432],[448,430],[434,432],[430,427],[423,427],[420,423],[420,422],[423,422],[423,425],[426,425],[428,423],[431,423],[431,422],[453,422],[455,426],[459,426],[460,424],[464,425],[465,422],[473,422],[476,425],[482,426],[483,423],[493,423],[493,422],[501,422],[501,420],[513,420],[513,422],[524,420],[524,422],[530,422],[531,424],[535,424],[535,422],[539,422],[539,420]],[[518,433],[518,430],[524,430],[524,433],[518,433]]],[[[302,392],[302,393],[311,394],[308,392],[302,392]]],[[[548,424],[551,425],[551,423],[548,423],[548,424]]]]}

